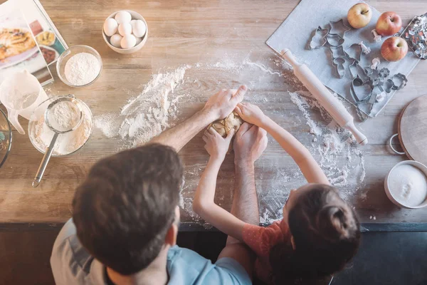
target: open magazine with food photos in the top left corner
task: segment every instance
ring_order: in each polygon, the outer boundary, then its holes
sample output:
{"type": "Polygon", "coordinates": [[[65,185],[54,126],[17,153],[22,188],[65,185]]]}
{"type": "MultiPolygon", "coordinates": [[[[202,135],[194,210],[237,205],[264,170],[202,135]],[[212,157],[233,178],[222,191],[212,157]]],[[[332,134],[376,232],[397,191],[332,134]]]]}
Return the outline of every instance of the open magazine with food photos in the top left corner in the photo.
{"type": "Polygon", "coordinates": [[[0,5],[0,83],[22,69],[36,76],[42,86],[51,83],[48,66],[67,48],[38,0],[9,0],[0,5]]]}

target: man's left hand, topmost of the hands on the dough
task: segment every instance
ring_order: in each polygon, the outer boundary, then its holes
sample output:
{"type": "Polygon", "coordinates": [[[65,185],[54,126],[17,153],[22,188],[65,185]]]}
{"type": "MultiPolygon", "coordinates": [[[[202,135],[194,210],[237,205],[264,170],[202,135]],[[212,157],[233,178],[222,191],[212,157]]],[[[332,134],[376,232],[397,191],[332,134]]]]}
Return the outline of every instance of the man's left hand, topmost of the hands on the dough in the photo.
{"type": "Polygon", "coordinates": [[[244,85],[238,90],[223,89],[209,98],[203,110],[211,115],[212,121],[226,118],[236,108],[237,103],[243,100],[246,90],[248,88],[244,85]]]}

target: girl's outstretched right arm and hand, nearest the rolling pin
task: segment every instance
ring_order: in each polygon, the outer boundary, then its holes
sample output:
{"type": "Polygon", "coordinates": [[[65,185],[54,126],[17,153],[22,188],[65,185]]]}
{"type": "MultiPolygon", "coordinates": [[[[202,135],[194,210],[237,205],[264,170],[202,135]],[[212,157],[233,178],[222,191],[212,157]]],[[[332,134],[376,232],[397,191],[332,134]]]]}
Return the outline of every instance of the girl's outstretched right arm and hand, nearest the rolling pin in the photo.
{"type": "Polygon", "coordinates": [[[236,112],[243,120],[266,130],[277,140],[283,149],[289,153],[300,167],[302,174],[309,183],[330,185],[322,168],[317,164],[310,152],[288,131],[264,115],[258,106],[249,103],[239,103],[236,112]]]}

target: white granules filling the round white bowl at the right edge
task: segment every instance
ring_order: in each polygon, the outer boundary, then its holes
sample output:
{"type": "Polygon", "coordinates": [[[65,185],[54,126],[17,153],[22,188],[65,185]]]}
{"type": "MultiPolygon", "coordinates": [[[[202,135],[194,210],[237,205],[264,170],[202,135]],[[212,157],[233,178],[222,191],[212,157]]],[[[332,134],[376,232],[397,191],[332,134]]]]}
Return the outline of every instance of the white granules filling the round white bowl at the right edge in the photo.
{"type": "Polygon", "coordinates": [[[389,190],[397,202],[418,206],[427,197],[427,177],[413,165],[399,165],[390,173],[389,190]]]}

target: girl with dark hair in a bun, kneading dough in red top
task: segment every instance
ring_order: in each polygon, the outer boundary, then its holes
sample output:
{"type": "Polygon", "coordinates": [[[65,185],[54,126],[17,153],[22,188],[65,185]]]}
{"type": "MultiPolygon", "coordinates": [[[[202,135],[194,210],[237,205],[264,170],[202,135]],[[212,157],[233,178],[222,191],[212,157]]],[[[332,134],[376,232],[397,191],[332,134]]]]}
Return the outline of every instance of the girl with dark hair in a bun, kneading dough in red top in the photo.
{"type": "Polygon", "coordinates": [[[310,152],[255,105],[235,110],[247,123],[263,128],[295,160],[309,184],[291,190],[283,219],[269,227],[248,224],[214,203],[218,170],[231,135],[204,134],[211,155],[194,197],[194,211],[206,222],[251,247],[257,255],[255,276],[268,284],[298,284],[343,269],[359,247],[360,230],[352,207],[339,197],[310,152]]]}

